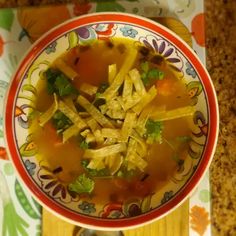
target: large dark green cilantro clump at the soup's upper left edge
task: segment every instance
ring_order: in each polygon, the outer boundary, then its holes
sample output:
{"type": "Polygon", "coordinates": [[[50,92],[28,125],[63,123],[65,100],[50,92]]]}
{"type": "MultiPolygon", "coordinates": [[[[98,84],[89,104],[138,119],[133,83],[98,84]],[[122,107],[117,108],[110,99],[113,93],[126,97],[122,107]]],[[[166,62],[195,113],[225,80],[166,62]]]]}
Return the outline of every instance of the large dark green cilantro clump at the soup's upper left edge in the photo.
{"type": "Polygon", "coordinates": [[[73,87],[69,79],[59,70],[48,69],[45,72],[47,78],[47,89],[49,94],[56,93],[59,96],[78,94],[78,90],[73,87]]]}

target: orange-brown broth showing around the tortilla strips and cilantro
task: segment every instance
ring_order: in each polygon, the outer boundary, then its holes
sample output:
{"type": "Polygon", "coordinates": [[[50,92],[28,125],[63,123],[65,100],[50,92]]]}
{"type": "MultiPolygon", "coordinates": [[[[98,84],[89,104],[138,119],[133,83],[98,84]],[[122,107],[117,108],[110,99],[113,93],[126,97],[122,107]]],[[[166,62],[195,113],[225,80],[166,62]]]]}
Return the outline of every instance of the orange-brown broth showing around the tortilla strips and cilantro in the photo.
{"type": "MultiPolygon", "coordinates": [[[[119,68],[126,56],[126,49],[133,45],[133,41],[124,39],[113,40],[112,47],[108,42],[97,41],[87,48],[71,49],[62,55],[62,58],[79,74],[79,78],[73,81],[75,87],[79,89],[82,82],[98,86],[107,81],[108,65],[116,63],[119,68]],[[78,63],[75,63],[76,60],[79,60],[78,63]]],[[[134,68],[140,67],[142,57],[142,54],[139,54],[134,68]]],[[[157,107],[165,105],[167,109],[189,105],[190,100],[183,80],[179,79],[166,63],[162,63],[159,67],[165,73],[165,77],[173,81],[174,92],[169,96],[158,94],[152,103],[157,107]]],[[[46,111],[52,104],[53,98],[47,93],[44,80],[38,83],[37,90],[36,108],[39,111],[46,111]]],[[[46,161],[52,170],[59,166],[63,168],[63,171],[57,174],[59,181],[67,185],[79,174],[85,172],[80,164],[83,150],[79,148],[75,138],[71,138],[69,142],[62,144],[50,122],[41,128],[36,119],[33,121],[30,130],[39,147],[37,157],[46,161]]],[[[176,136],[189,136],[190,134],[187,118],[164,122],[163,136],[167,140],[176,136]]],[[[187,145],[181,146],[179,153],[181,153],[181,159],[184,159],[187,155],[187,145]]],[[[140,181],[142,176],[136,176],[129,180],[94,178],[93,198],[99,203],[120,202],[129,197],[144,197],[147,194],[157,192],[170,180],[178,168],[172,157],[173,150],[166,142],[153,144],[147,156],[148,166],[145,173],[148,174],[148,177],[144,181],[140,181]]],[[[89,196],[82,197],[87,198],[89,196]]]]}

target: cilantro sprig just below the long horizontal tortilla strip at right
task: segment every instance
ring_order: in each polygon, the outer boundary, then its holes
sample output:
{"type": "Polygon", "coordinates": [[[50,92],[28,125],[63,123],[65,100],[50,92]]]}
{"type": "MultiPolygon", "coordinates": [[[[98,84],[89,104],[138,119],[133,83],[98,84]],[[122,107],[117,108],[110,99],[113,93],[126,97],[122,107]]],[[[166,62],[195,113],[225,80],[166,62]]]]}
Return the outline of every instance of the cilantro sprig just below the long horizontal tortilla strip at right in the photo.
{"type": "Polygon", "coordinates": [[[163,123],[148,119],[146,122],[146,137],[147,143],[162,142],[163,123]]]}

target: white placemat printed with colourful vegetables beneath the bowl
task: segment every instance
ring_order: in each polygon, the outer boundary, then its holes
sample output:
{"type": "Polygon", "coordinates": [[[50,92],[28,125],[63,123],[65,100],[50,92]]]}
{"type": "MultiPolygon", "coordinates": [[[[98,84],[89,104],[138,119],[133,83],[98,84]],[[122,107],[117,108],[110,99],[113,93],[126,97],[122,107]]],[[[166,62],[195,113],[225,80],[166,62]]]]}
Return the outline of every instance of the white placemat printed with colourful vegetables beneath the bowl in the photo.
{"type": "MultiPolygon", "coordinates": [[[[0,10],[0,235],[41,235],[41,207],[18,182],[5,150],[4,98],[11,76],[40,35],[53,26],[88,12],[121,11],[166,25],[182,37],[205,63],[204,7],[199,0],[91,1],[91,3],[0,10]]],[[[194,71],[189,68],[189,74],[194,71]]],[[[191,96],[197,95],[197,88],[191,96]]],[[[33,171],[33,166],[27,166],[33,171]]],[[[189,235],[211,235],[209,174],[190,198],[189,235]]]]}

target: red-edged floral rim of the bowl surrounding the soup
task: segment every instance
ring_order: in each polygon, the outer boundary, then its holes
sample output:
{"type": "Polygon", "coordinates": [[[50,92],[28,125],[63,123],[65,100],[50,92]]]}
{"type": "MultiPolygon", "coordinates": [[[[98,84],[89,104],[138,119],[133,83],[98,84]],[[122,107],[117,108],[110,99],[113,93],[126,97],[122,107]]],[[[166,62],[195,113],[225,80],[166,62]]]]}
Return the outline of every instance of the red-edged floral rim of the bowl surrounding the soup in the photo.
{"type": "Polygon", "coordinates": [[[9,91],[8,96],[15,99],[7,101],[5,120],[11,122],[5,127],[5,133],[8,151],[20,177],[43,205],[82,226],[127,228],[162,216],[190,194],[206,171],[214,152],[218,132],[218,110],[214,89],[206,70],[182,40],[163,26],[142,17],[120,13],[91,14],[57,27],[32,46],[32,50],[20,64],[9,91]],[[134,43],[144,43],[163,55],[167,62],[171,62],[173,70],[181,73],[191,99],[193,98],[192,105],[196,107],[192,120],[193,135],[186,161],[158,193],[144,199],[128,199],[119,204],[108,202],[105,205],[95,205],[91,201],[86,203],[92,206],[92,210],[89,210],[87,205],[84,206],[83,200],[73,198],[67,188],[57,182],[53,173],[50,174],[50,169],[45,168],[45,163],[36,160],[37,147],[29,139],[27,127],[30,124],[23,118],[23,109],[32,109],[40,74],[61,53],[78,44],[112,37],[131,37],[134,43]],[[192,73],[189,73],[189,65],[191,71],[193,69],[196,72],[194,78],[192,73]],[[28,89],[22,90],[23,86],[28,89]],[[34,171],[27,167],[29,161],[30,165],[34,166],[34,171]],[[102,221],[97,219],[100,217],[103,218],[102,221]]]}

